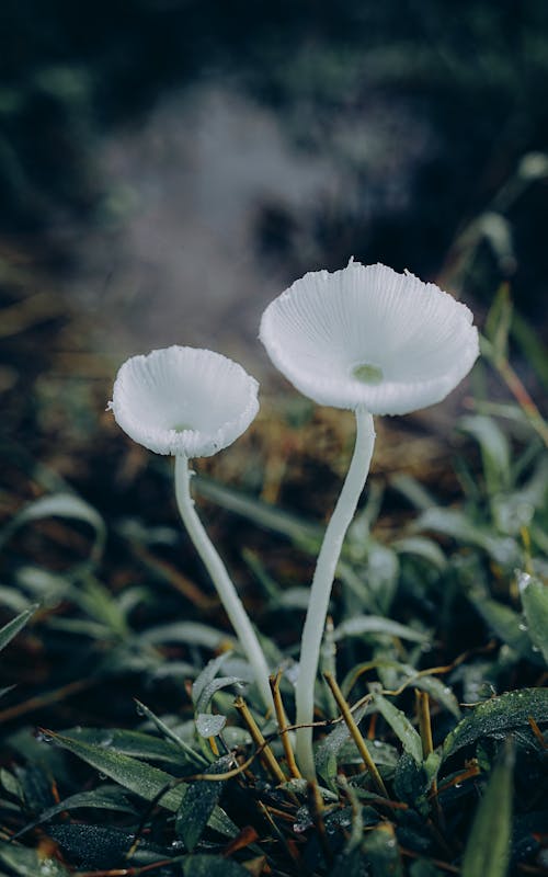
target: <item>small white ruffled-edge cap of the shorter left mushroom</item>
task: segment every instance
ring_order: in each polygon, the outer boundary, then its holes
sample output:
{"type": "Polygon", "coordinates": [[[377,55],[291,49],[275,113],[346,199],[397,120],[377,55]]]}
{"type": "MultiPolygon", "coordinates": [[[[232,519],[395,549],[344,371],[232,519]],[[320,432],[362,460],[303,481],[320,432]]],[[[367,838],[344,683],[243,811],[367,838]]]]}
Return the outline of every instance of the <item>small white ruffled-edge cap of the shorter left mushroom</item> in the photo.
{"type": "Polygon", "coordinates": [[[109,407],[150,451],[209,457],[248,429],[259,410],[258,389],[241,365],[220,353],[174,345],[127,360],[109,407]]]}

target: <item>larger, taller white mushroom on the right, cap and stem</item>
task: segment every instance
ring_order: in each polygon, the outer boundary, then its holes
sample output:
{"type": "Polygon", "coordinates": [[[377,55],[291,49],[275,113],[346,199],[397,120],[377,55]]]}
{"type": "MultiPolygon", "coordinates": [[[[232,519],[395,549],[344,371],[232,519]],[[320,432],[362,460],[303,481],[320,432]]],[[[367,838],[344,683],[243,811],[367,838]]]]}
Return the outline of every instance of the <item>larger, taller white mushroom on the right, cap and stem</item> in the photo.
{"type": "Polygon", "coordinates": [[[444,399],[473,365],[472,314],[432,283],[386,265],[349,265],[296,281],[266,308],[260,339],[274,365],[319,405],[356,417],[356,443],[326,529],[302,631],[296,684],[297,760],[316,775],[313,688],[336,563],[367,479],[373,414],[404,414],[444,399]]]}

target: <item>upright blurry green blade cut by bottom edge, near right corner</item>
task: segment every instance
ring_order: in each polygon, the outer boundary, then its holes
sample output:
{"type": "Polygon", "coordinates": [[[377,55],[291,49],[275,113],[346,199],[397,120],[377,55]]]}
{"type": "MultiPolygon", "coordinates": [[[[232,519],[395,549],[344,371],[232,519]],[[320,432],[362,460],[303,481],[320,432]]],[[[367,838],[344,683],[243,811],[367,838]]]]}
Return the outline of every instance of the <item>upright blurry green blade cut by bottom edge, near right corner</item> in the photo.
{"type": "Polygon", "coordinates": [[[502,751],[472,823],[463,859],[463,877],[505,877],[512,834],[513,748],[502,751]]]}

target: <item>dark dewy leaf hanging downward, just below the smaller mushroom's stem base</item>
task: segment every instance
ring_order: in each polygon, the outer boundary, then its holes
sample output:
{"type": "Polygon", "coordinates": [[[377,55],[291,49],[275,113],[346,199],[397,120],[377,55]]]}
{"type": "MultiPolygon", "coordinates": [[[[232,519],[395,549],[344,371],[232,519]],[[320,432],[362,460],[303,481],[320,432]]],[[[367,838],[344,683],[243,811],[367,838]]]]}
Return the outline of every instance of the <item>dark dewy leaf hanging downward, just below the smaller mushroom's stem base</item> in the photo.
{"type": "MultiPolygon", "coordinates": [[[[207,768],[207,773],[224,774],[232,763],[232,755],[224,755],[207,768]]],[[[187,786],[176,815],[175,832],[191,853],[202,840],[224,787],[225,783],[220,779],[196,779],[187,786]]]]}

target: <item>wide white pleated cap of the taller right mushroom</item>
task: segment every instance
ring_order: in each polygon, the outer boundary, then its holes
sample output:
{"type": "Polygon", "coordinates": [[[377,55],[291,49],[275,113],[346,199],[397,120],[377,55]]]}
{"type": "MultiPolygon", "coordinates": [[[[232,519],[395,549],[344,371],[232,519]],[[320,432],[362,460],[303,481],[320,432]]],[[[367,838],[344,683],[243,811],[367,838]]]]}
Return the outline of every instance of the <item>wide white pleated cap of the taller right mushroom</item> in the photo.
{"type": "Polygon", "coordinates": [[[439,402],[472,367],[472,314],[433,283],[350,261],[305,274],[272,301],[260,339],[305,396],[406,414],[439,402]]]}

